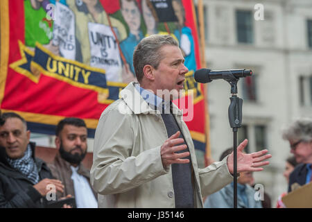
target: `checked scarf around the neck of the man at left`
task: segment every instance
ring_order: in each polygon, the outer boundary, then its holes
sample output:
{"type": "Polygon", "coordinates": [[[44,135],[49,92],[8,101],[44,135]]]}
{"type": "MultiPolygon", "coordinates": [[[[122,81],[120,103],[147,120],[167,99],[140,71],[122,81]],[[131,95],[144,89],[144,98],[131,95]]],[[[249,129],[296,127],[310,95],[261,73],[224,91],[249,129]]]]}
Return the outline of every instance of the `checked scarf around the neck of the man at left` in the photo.
{"type": "Polygon", "coordinates": [[[26,176],[28,180],[31,180],[31,182],[35,185],[39,182],[39,173],[37,165],[31,156],[32,154],[33,152],[31,151],[31,146],[28,145],[24,157],[16,160],[12,160],[7,157],[6,160],[8,160],[8,163],[12,168],[23,173],[24,176],[26,176]]]}

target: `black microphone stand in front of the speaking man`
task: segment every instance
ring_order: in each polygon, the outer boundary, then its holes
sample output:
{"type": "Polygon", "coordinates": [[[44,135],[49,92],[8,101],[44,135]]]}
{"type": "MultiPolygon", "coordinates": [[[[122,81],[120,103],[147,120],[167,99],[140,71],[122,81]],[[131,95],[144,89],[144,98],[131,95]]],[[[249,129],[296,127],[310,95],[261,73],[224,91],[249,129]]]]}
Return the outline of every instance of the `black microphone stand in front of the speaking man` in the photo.
{"type": "Polygon", "coordinates": [[[228,74],[225,78],[231,85],[230,97],[231,103],[229,104],[229,125],[233,130],[233,153],[234,153],[234,208],[237,208],[237,131],[241,127],[242,119],[242,106],[243,99],[237,96],[237,82],[239,78],[236,78],[233,74],[228,74]]]}

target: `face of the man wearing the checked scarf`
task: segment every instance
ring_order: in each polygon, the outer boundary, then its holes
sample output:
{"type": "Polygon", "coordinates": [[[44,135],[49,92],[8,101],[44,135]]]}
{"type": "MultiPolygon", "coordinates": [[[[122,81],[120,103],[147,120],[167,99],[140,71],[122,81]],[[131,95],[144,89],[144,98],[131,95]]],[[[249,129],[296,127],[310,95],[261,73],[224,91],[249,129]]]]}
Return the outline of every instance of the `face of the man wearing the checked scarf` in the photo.
{"type": "Polygon", "coordinates": [[[0,126],[0,145],[6,148],[6,154],[11,159],[24,156],[30,137],[31,132],[26,130],[26,126],[18,118],[8,118],[0,126]]]}

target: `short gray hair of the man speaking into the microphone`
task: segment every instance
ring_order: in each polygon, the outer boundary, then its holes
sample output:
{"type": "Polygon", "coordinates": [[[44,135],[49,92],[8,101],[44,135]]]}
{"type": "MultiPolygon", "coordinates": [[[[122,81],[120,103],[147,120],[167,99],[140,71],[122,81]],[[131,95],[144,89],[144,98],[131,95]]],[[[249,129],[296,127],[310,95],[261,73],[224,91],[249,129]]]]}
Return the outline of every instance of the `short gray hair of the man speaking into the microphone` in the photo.
{"type": "Polygon", "coordinates": [[[145,65],[151,65],[157,69],[162,60],[160,49],[166,45],[179,46],[171,35],[150,35],[137,44],[133,53],[133,67],[135,67],[135,75],[139,82],[144,76],[145,65]]]}

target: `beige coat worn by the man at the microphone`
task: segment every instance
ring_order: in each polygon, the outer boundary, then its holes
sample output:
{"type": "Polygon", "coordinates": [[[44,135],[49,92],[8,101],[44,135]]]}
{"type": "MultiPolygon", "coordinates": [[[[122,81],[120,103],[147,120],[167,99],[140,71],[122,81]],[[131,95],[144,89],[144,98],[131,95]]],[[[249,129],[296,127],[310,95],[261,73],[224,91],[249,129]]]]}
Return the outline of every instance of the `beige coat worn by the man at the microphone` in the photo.
{"type": "MultiPolygon", "coordinates": [[[[194,201],[232,182],[227,157],[198,169],[194,145],[182,111],[173,105],[185,142],[189,146],[194,178],[194,201]]],[[[101,114],[94,138],[91,184],[99,207],[175,207],[171,167],[164,169],[160,147],[168,139],[159,111],[148,106],[134,83],[121,91],[121,99],[101,114]]]]}

